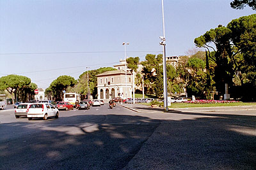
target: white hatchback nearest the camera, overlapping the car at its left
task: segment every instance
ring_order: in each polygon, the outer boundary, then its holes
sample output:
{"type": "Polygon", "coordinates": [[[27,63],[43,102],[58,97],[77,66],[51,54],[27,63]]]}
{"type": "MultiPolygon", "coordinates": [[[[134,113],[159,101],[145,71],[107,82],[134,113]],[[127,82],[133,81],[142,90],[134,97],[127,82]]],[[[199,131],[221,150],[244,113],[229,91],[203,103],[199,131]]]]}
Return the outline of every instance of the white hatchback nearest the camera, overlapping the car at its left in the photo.
{"type": "Polygon", "coordinates": [[[47,120],[47,117],[59,117],[59,110],[50,103],[34,103],[31,104],[28,109],[28,120],[32,118],[43,118],[47,120]]]}

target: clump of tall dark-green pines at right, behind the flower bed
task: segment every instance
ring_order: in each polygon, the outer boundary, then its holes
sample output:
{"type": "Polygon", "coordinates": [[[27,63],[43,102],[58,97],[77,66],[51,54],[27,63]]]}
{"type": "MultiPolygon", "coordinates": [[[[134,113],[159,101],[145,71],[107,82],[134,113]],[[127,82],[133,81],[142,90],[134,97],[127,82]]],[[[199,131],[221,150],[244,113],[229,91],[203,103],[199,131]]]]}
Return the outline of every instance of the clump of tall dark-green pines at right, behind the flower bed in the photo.
{"type": "Polygon", "coordinates": [[[219,25],[194,42],[215,52],[214,81],[219,92],[223,94],[224,83],[234,83],[234,77],[242,86],[250,83],[256,87],[256,14],[234,19],[227,27],[219,25]]]}

